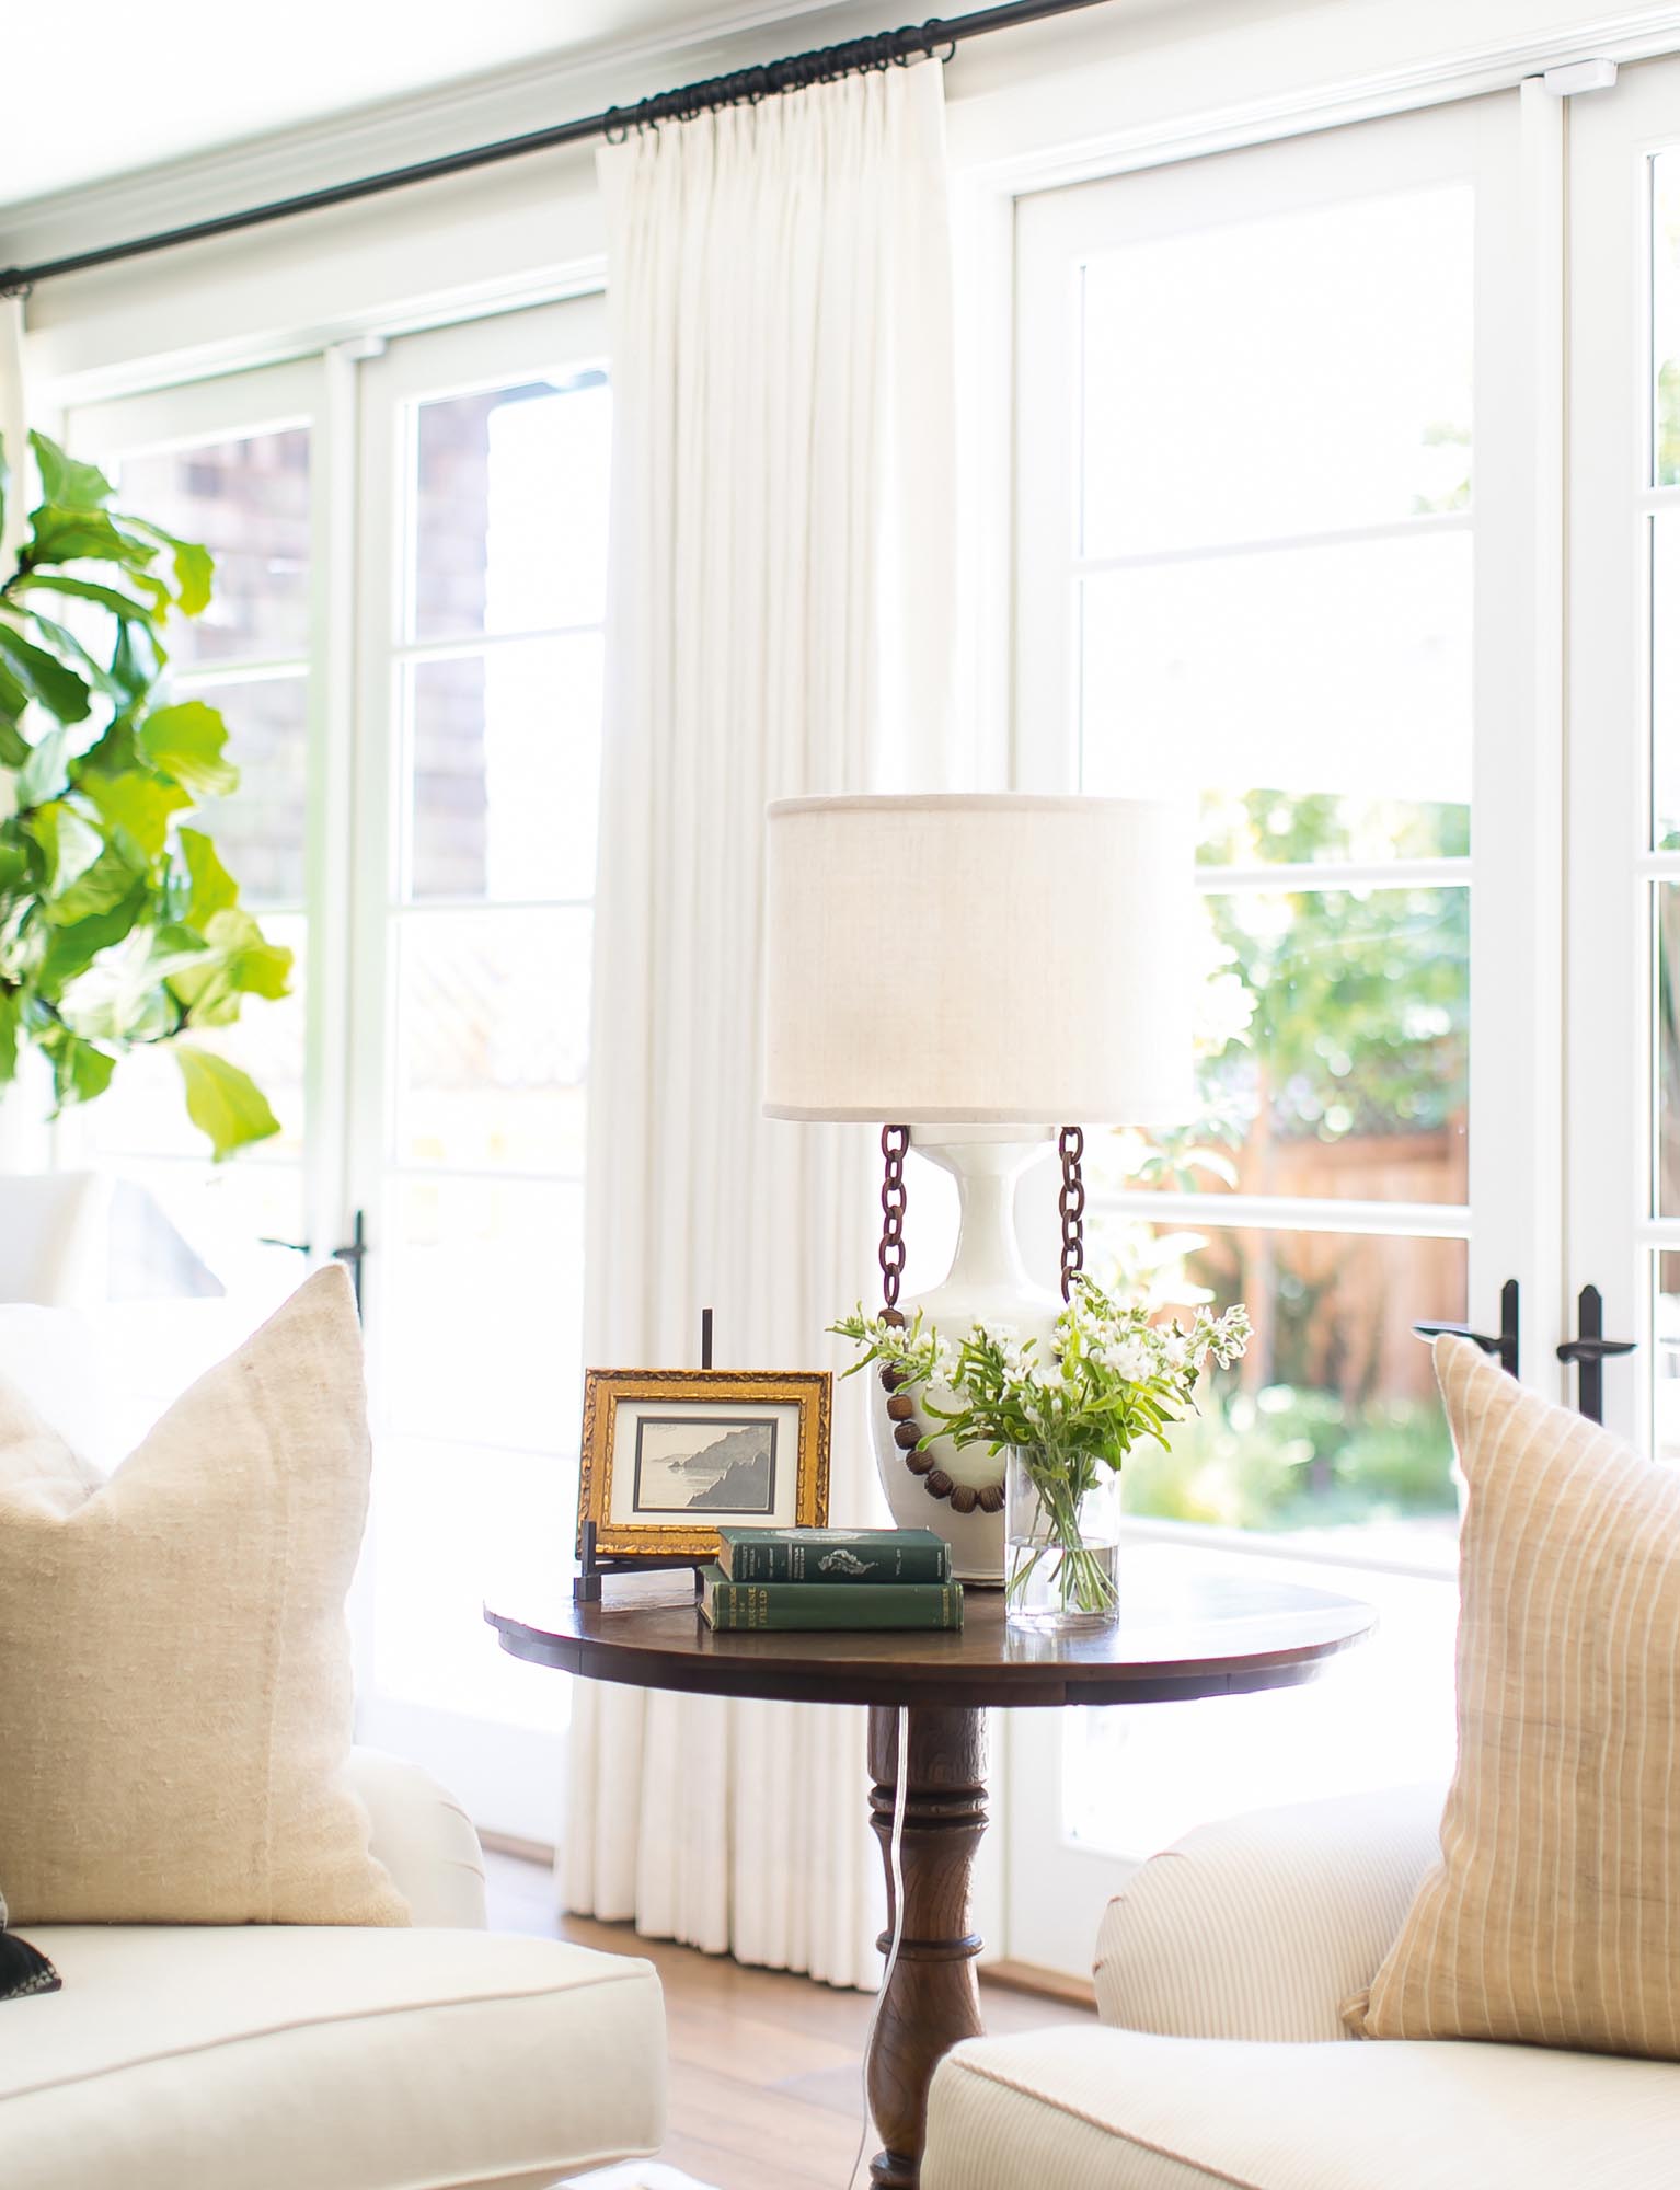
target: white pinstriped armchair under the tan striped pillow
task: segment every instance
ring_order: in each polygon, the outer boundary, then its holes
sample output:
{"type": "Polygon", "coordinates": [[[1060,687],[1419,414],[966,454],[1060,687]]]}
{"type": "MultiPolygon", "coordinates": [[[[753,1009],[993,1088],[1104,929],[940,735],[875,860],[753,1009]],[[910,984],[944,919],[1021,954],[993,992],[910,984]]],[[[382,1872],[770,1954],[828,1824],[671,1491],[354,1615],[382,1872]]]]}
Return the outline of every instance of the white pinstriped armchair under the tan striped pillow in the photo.
{"type": "Polygon", "coordinates": [[[922,2190],[1680,2183],[1680,2067],[1347,2037],[1340,2002],[1400,1932],[1439,1818],[1439,1787],[1367,1794],[1143,1864],[1097,1936],[1104,2028],[959,2045],[922,2190]]]}

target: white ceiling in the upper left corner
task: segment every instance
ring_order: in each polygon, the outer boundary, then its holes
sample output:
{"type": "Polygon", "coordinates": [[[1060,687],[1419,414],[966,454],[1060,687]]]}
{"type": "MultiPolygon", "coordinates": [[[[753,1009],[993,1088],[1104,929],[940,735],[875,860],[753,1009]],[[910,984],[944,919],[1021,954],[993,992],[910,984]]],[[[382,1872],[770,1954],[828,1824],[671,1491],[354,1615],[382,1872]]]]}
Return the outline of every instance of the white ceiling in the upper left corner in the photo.
{"type": "MultiPolygon", "coordinates": [[[[0,0],[0,206],[528,59],[799,15],[819,0],[0,0]]],[[[561,118],[561,116],[556,116],[561,118]]]]}

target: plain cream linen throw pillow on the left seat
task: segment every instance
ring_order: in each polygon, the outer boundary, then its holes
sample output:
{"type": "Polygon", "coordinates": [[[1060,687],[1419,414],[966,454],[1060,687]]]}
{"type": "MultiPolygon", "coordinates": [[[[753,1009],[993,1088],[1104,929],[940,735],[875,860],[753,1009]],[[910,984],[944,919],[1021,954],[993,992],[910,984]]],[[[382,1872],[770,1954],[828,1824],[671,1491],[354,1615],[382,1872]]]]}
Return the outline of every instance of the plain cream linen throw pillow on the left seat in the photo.
{"type": "Polygon", "coordinates": [[[350,1283],[311,1277],[101,1483],[0,1380],[15,1925],[403,1925],[340,1783],[368,1509],[350,1283]]]}

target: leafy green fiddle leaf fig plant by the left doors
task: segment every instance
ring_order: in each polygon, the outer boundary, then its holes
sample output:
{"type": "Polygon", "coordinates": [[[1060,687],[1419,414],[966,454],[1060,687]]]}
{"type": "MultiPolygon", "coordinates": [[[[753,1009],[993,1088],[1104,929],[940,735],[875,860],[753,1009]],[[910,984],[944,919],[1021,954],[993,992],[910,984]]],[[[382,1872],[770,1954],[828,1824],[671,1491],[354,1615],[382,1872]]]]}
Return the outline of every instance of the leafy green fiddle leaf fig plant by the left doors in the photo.
{"type": "MultiPolygon", "coordinates": [[[[164,1042],[221,1161],[280,1126],[193,1036],[232,1025],[245,996],[285,996],[291,953],[188,821],[239,784],[217,710],[162,685],[166,620],[208,607],[212,561],[112,510],[94,464],[28,442],[42,499],[0,565],[0,1095],[35,1049],[57,1115],[164,1042]]],[[[9,486],[0,447],[0,523],[9,486]]]]}

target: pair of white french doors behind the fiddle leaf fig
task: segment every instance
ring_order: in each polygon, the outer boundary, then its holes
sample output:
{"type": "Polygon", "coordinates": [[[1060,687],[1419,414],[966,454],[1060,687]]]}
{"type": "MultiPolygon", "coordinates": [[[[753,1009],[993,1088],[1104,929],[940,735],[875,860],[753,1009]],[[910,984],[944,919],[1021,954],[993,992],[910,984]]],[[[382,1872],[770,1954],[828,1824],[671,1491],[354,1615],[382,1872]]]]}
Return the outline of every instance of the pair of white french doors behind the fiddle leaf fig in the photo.
{"type": "Polygon", "coordinates": [[[276,1141],[204,1163],[166,1058],[59,1132],[59,1161],[145,1185],[226,1286],[112,1318],[134,1426],[350,1253],[375,1428],[359,1734],[534,1842],[567,1684],[504,1658],[482,1603],[552,1581],[576,1498],[607,403],[583,298],[66,423],[217,554],[173,675],[228,718],[243,782],[210,826],[298,950],[294,999],[226,1036],[276,1141]]]}

